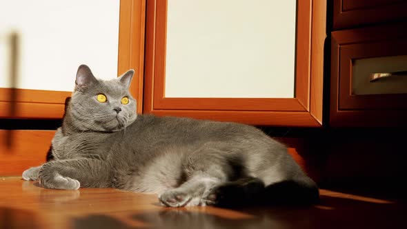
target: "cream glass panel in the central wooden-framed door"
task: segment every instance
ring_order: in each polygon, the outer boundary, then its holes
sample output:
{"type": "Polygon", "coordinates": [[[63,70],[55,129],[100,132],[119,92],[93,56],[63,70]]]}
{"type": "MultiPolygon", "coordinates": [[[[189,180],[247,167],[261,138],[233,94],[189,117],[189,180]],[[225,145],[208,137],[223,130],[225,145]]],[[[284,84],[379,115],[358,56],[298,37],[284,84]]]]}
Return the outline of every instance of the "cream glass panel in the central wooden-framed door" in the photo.
{"type": "Polygon", "coordinates": [[[166,97],[292,98],[296,1],[168,1],[166,97]]]}

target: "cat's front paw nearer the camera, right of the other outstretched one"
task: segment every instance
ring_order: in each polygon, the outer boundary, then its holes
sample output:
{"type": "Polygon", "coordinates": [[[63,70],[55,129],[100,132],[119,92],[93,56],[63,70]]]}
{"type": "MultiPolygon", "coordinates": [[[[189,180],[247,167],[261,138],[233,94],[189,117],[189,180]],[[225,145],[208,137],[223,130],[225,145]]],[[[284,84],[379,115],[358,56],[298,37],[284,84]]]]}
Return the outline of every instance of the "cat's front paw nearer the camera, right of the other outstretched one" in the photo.
{"type": "Polygon", "coordinates": [[[50,179],[46,177],[40,177],[39,183],[44,188],[63,189],[63,190],[77,190],[81,187],[81,183],[78,180],[70,177],[63,177],[58,173],[55,173],[50,179]]]}

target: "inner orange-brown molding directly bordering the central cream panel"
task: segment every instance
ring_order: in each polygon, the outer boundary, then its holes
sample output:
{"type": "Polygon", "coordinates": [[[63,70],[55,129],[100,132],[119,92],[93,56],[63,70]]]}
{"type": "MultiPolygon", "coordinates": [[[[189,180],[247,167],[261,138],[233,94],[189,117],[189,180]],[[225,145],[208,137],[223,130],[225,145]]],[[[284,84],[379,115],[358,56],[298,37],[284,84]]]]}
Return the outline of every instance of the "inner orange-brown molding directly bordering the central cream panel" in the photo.
{"type": "MultiPolygon", "coordinates": [[[[154,110],[304,110],[308,109],[310,74],[310,2],[300,1],[297,21],[295,99],[166,98],[167,0],[157,0],[155,19],[154,110]],[[277,102],[277,101],[281,102],[277,102]],[[255,104],[255,106],[251,105],[255,104]],[[226,106],[228,105],[228,106],[226,106]],[[302,106],[301,106],[302,105],[302,106]]],[[[148,25],[150,26],[150,24],[148,25]]]]}

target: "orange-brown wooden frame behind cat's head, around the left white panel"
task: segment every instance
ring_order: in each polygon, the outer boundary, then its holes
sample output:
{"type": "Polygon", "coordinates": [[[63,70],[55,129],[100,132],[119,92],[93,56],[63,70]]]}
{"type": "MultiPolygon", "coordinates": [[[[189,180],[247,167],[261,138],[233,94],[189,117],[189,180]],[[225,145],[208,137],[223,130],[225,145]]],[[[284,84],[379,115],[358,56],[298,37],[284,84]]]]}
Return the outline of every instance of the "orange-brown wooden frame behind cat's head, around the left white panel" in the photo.
{"type": "MultiPolygon", "coordinates": [[[[138,101],[137,112],[141,112],[146,0],[121,0],[119,15],[117,74],[135,69],[130,92],[138,101]]],[[[73,81],[72,78],[72,87],[73,81]]],[[[0,118],[61,119],[65,99],[71,94],[52,90],[0,88],[0,118]]]]}

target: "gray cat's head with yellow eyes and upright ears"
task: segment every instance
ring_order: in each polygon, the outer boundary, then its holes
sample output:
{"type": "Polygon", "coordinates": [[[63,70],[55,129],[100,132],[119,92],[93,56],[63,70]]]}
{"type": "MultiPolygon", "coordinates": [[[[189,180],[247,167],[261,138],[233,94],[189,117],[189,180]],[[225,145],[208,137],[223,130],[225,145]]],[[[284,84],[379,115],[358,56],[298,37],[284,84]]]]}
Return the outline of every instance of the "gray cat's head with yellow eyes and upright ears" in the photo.
{"type": "Polygon", "coordinates": [[[77,130],[115,132],[129,126],[137,118],[136,100],[128,88],[134,70],[103,81],[81,65],[77,71],[75,90],[68,106],[70,125],[77,130]]]}

